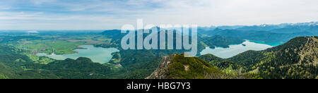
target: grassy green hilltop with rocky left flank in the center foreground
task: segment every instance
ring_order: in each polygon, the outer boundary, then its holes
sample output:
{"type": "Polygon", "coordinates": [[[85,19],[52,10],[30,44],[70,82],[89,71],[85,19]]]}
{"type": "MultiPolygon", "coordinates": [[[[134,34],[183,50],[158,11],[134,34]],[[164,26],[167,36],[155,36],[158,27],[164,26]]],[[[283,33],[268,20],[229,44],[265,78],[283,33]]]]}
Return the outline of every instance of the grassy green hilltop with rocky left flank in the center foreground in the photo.
{"type": "Polygon", "coordinates": [[[204,60],[184,57],[184,54],[165,56],[160,66],[148,79],[244,79],[254,78],[248,74],[226,73],[204,60]]]}

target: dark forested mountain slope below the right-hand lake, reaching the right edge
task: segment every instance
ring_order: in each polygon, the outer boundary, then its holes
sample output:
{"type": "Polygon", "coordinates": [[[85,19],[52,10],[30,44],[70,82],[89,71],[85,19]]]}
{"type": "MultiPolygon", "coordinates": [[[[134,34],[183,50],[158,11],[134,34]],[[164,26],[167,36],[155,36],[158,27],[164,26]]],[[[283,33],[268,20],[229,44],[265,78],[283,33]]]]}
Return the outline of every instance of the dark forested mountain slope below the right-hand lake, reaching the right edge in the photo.
{"type": "Polygon", "coordinates": [[[263,78],[317,78],[317,37],[296,37],[264,51],[246,51],[222,59],[211,54],[200,56],[219,68],[259,73],[263,78]]]}

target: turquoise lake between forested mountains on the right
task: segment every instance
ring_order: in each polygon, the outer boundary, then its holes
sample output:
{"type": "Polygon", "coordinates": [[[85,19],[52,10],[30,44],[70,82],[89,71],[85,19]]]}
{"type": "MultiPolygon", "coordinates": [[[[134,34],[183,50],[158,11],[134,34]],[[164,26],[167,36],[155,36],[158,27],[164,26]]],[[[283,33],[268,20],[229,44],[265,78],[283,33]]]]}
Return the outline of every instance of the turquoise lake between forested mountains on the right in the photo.
{"type": "Polygon", "coordinates": [[[206,47],[206,49],[201,51],[200,54],[213,54],[214,56],[218,56],[220,58],[230,58],[232,56],[236,56],[237,54],[241,54],[245,51],[260,51],[271,48],[273,46],[278,46],[280,44],[283,44],[283,42],[266,44],[264,42],[246,40],[242,44],[230,45],[229,48],[216,47],[216,49],[210,49],[209,47],[206,47]],[[246,46],[243,46],[243,44],[245,44],[246,46]]]}

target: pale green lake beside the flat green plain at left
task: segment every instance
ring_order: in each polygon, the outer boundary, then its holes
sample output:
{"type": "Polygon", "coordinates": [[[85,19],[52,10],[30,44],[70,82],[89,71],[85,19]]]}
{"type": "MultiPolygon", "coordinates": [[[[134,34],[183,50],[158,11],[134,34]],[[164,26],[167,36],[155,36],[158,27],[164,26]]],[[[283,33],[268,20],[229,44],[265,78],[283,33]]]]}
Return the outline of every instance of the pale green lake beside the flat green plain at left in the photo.
{"type": "Polygon", "coordinates": [[[84,49],[75,49],[73,51],[78,52],[77,54],[63,54],[63,55],[48,55],[48,54],[37,54],[37,56],[47,56],[56,60],[64,60],[66,58],[76,59],[79,57],[90,58],[95,63],[108,63],[112,59],[112,53],[118,52],[115,48],[100,48],[94,47],[93,45],[82,45],[84,49]]]}

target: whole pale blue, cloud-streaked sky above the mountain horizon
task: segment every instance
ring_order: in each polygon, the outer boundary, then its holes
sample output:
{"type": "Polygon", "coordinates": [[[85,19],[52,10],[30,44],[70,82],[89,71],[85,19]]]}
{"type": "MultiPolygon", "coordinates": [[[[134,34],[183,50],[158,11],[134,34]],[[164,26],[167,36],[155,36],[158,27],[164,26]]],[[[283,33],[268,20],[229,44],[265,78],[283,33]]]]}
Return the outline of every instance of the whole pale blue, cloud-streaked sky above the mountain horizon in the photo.
{"type": "Polygon", "coordinates": [[[2,0],[0,30],[123,25],[261,25],[318,21],[318,0],[2,0]]]}

